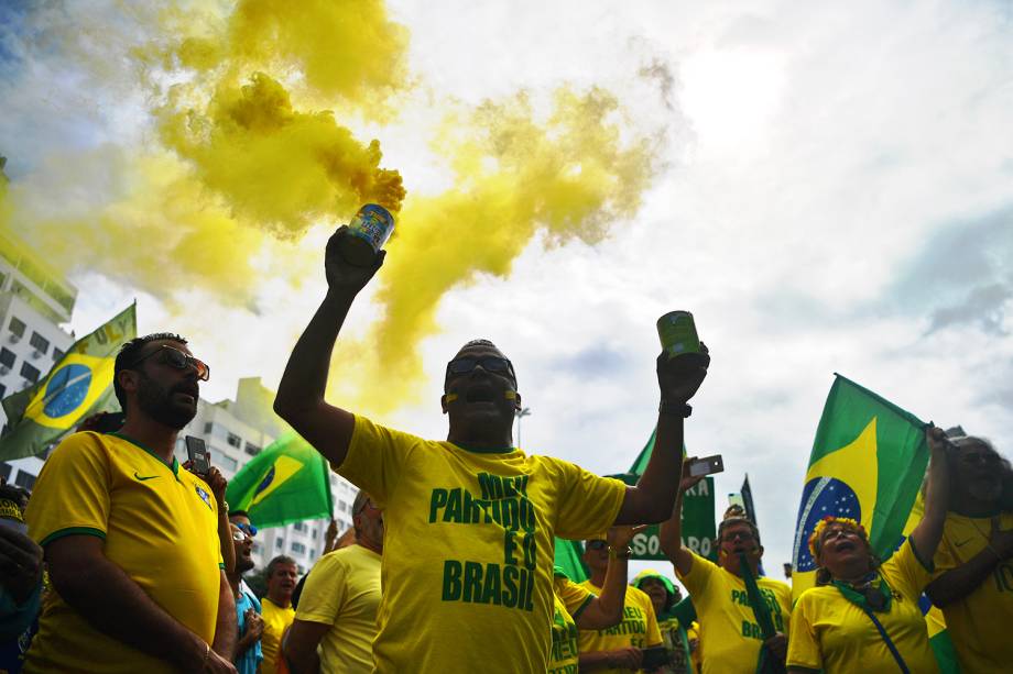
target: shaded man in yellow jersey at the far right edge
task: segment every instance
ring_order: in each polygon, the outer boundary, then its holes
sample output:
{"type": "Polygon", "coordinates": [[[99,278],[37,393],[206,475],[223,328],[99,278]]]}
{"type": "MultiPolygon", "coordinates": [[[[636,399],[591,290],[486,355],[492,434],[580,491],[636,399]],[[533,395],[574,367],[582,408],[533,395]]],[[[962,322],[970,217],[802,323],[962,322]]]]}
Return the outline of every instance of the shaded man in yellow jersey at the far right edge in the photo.
{"type": "Polygon", "coordinates": [[[1013,667],[1013,471],[987,440],[956,437],[949,512],[926,589],[965,674],[1013,667]]]}

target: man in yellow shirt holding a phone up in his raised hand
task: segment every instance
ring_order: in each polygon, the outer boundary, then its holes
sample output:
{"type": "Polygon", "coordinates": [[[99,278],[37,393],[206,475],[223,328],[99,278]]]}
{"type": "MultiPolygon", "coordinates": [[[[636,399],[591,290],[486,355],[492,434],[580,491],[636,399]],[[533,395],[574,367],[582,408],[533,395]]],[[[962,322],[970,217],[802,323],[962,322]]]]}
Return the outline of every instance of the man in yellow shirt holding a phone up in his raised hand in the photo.
{"type": "MultiPolygon", "coordinates": [[[[686,460],[687,463],[690,460],[686,460]]],[[[730,517],[718,527],[718,564],[683,546],[683,494],[702,477],[684,477],[672,518],[661,527],[662,550],[686,586],[700,621],[702,674],[753,674],[765,648],[770,656],[784,663],[792,612],[792,590],[767,577],[756,577],[763,545],[756,526],[743,517],[730,517]],[[755,612],[745,589],[740,555],[744,554],[748,572],[756,577],[760,594],[771,614],[776,633],[761,637],[755,612]]],[[[761,608],[762,610],[762,608],[761,608]]]]}

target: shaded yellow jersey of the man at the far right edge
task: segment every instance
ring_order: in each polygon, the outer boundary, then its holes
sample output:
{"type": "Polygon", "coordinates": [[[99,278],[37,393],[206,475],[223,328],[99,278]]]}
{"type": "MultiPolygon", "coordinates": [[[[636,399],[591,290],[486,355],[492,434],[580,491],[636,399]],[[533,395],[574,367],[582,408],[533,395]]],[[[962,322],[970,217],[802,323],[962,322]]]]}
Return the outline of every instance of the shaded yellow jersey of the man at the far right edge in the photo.
{"type": "MultiPolygon", "coordinates": [[[[999,516],[1001,530],[1013,529],[1013,512],[999,516]]],[[[977,556],[992,534],[992,519],[965,517],[956,512],[946,516],[943,541],[936,550],[938,577],[977,556]]],[[[974,592],[960,601],[943,608],[960,671],[999,672],[1013,666],[1013,561],[1000,562],[992,574],[974,592]]]]}

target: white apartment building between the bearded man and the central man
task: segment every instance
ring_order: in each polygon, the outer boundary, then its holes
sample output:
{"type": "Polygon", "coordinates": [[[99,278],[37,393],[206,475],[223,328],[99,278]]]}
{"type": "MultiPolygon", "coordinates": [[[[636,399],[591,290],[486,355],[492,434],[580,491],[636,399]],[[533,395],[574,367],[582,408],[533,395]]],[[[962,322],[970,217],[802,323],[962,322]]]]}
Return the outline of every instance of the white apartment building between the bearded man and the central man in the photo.
{"type": "MultiPolygon", "coordinates": [[[[235,400],[208,402],[201,399],[197,416],[179,433],[176,456],[186,461],[184,435],[204,440],[210,452],[211,465],[231,479],[239,469],[288,427],[272,409],[274,391],[261,384],[260,377],[239,380],[235,400]]],[[[344,477],[330,474],[334,497],[334,519],[338,534],[351,528],[351,504],[358,489],[344,477]]],[[[253,561],[262,568],[272,557],[285,554],[295,560],[299,574],[305,573],[320,556],[328,520],[295,522],[287,527],[263,529],[253,543],[253,561]]]]}

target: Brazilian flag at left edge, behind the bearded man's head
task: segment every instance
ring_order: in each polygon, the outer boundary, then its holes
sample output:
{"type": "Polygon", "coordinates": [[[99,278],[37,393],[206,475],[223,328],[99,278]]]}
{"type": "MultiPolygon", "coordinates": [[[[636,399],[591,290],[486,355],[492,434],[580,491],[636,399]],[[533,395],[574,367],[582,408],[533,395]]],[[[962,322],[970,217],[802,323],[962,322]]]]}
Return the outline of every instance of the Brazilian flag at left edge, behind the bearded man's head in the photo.
{"type": "Polygon", "coordinates": [[[74,342],[34,386],[3,399],[10,431],[0,439],[0,461],[33,456],[73,430],[81,419],[116,405],[116,354],[138,335],[137,305],[74,342]]]}

